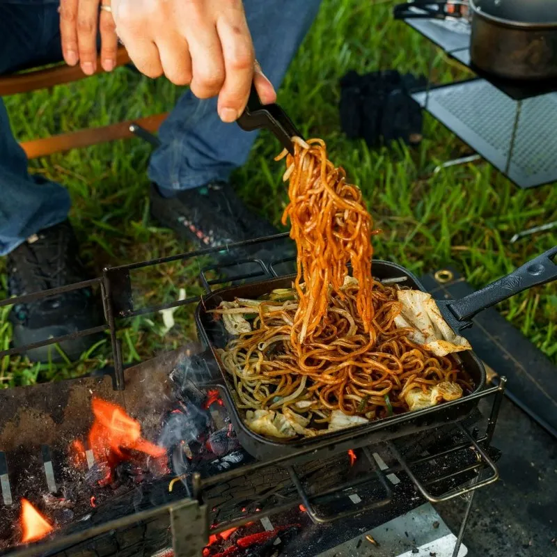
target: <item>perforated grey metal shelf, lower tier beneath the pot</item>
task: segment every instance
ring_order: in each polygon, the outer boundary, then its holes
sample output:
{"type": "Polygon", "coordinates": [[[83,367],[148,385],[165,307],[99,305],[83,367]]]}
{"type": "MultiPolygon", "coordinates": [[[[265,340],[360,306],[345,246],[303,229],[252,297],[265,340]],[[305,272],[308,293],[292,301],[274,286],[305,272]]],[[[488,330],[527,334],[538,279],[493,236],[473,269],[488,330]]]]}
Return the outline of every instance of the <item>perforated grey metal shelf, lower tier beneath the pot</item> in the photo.
{"type": "Polygon", "coordinates": [[[519,187],[557,180],[557,93],[515,102],[474,79],[412,97],[519,187]]]}

